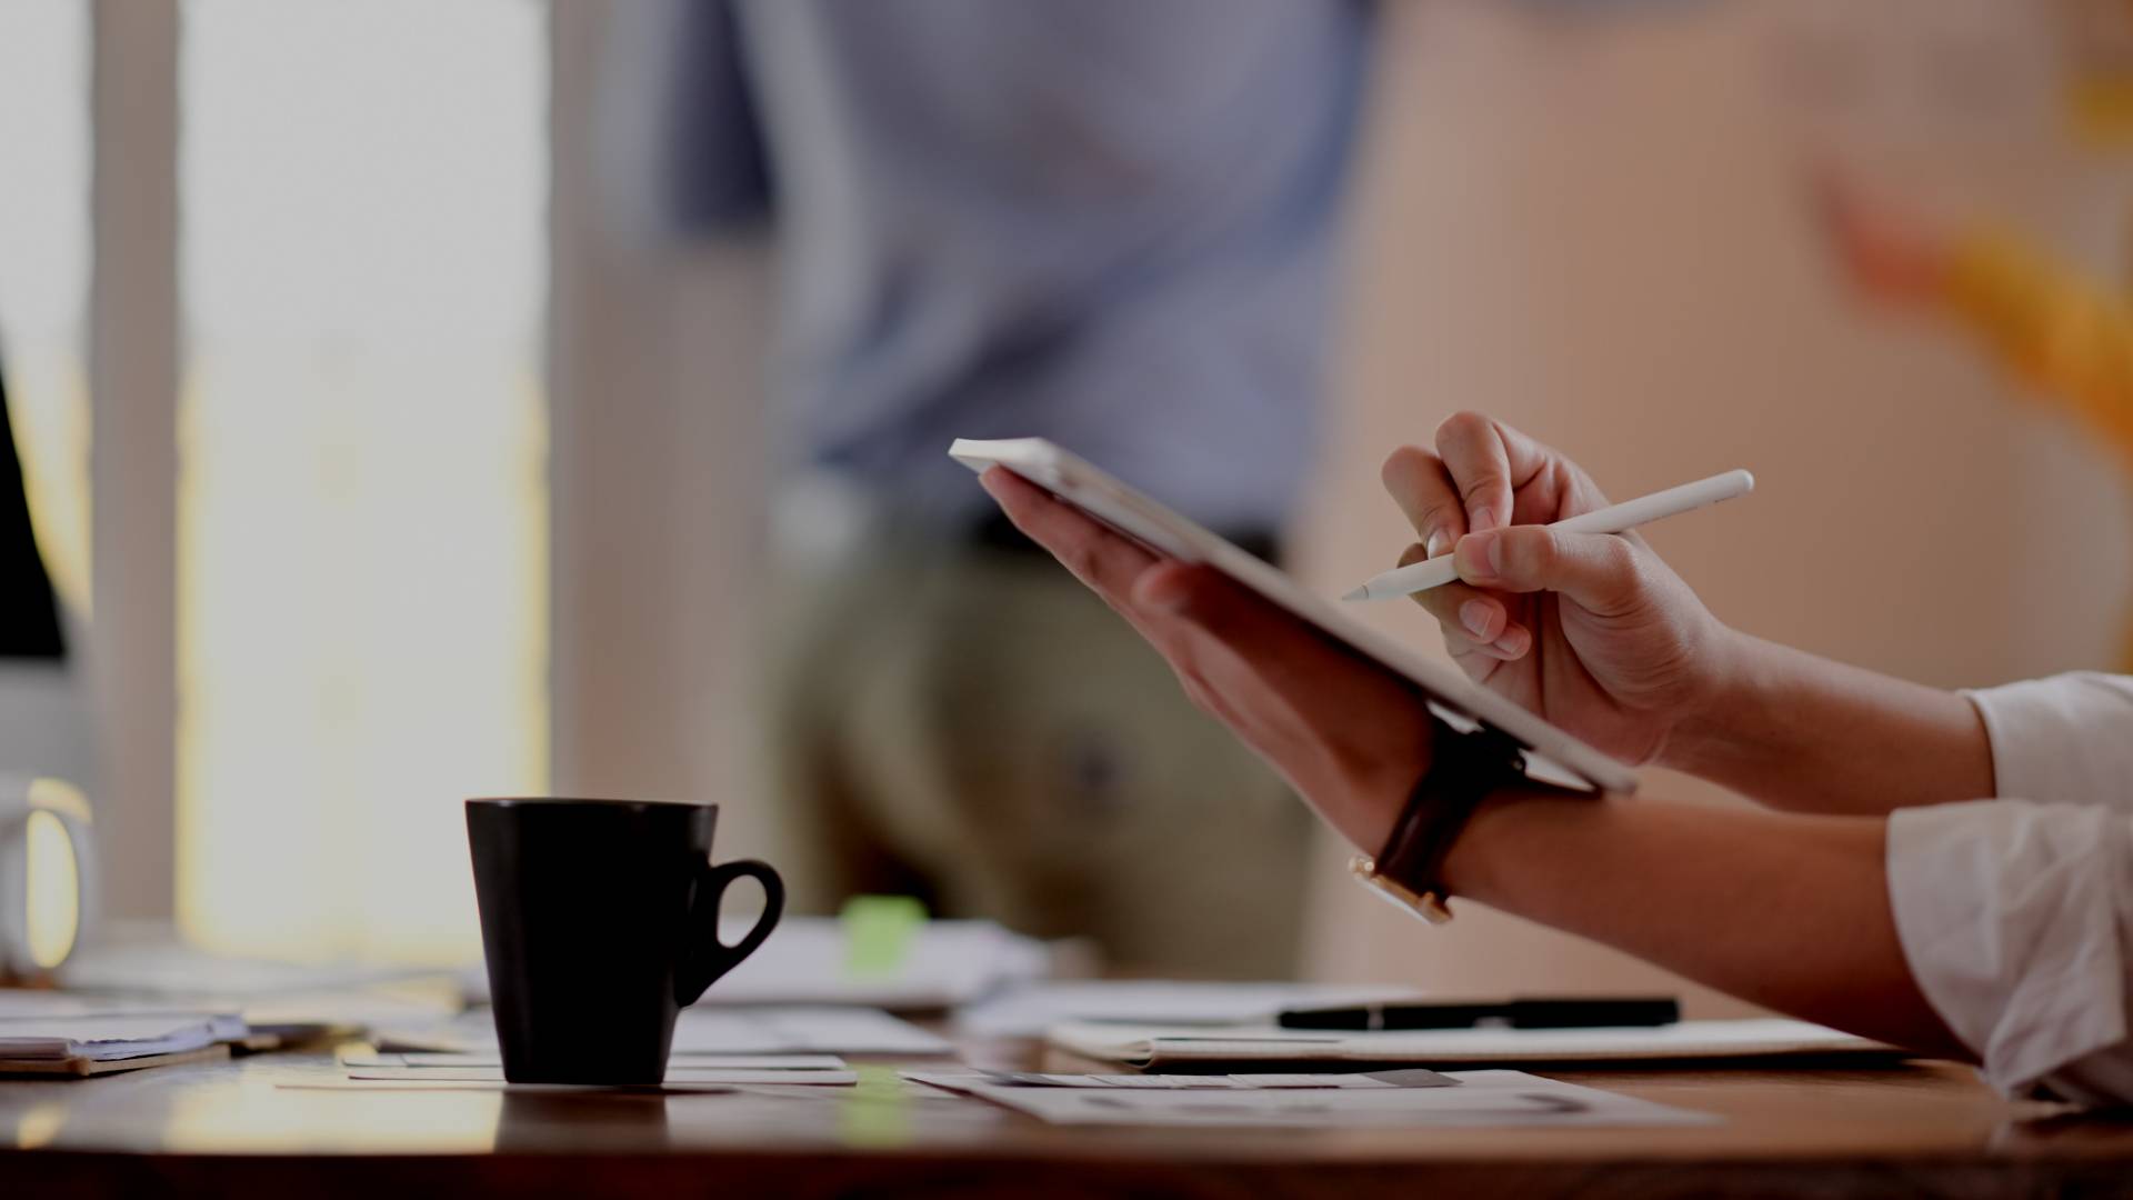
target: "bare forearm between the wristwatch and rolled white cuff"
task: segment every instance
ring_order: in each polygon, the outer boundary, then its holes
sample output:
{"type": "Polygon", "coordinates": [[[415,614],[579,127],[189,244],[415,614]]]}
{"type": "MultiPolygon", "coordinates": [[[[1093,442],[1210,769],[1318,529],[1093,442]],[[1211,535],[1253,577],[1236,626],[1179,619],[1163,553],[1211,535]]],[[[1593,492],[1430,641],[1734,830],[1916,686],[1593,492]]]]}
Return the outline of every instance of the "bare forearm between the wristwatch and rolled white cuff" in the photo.
{"type": "Polygon", "coordinates": [[[1886,824],[1519,794],[1476,814],[1444,882],[1766,1008],[1969,1057],[1905,965],[1886,824]]]}

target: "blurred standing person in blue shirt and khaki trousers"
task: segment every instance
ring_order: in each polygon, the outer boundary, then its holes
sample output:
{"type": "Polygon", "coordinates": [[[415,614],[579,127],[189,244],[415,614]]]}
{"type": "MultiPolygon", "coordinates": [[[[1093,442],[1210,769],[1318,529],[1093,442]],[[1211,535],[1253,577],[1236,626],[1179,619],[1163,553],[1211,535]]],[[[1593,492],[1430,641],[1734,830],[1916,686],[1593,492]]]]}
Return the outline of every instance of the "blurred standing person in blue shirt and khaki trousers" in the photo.
{"type": "Polygon", "coordinates": [[[1361,0],[627,4],[663,222],[779,248],[766,647],[796,905],[917,895],[1282,976],[1310,824],[1017,534],[1045,436],[1278,557],[1318,440],[1361,0]]]}

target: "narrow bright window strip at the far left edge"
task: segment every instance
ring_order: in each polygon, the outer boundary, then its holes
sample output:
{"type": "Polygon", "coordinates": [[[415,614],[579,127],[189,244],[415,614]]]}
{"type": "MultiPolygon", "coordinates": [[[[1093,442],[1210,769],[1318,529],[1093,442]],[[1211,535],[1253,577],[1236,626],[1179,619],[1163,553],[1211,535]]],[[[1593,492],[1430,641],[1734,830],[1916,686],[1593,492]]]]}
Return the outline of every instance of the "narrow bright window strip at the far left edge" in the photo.
{"type": "Polygon", "coordinates": [[[53,585],[90,600],[90,6],[0,2],[0,369],[53,585]]]}

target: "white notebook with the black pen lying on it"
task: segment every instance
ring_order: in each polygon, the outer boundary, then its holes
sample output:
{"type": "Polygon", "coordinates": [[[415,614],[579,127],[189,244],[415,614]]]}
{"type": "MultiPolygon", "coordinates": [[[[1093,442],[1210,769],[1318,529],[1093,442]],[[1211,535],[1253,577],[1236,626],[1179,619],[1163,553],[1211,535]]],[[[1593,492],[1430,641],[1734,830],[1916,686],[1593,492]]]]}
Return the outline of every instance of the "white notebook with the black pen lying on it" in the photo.
{"type": "Polygon", "coordinates": [[[1052,1044],[1135,1065],[1162,1063],[1604,1063],[1787,1055],[1892,1055],[1894,1048],[1807,1021],[1681,1021],[1619,1029],[1314,1029],[1066,1023],[1052,1044]]]}

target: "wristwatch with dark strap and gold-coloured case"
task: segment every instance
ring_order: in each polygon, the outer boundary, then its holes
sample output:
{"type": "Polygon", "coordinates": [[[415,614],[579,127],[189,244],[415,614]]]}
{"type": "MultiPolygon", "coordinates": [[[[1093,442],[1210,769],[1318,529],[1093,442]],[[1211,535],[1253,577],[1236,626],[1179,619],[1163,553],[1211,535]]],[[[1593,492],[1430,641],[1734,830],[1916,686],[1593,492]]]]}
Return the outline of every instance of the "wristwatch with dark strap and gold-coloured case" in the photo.
{"type": "Polygon", "coordinates": [[[1474,809],[1491,794],[1525,784],[1525,749],[1489,726],[1459,732],[1436,722],[1429,769],[1408,792],[1408,805],[1393,822],[1393,835],[1376,856],[1357,854],[1348,871],[1365,888],[1429,925],[1453,918],[1450,893],[1438,882],[1444,856],[1474,809]]]}

